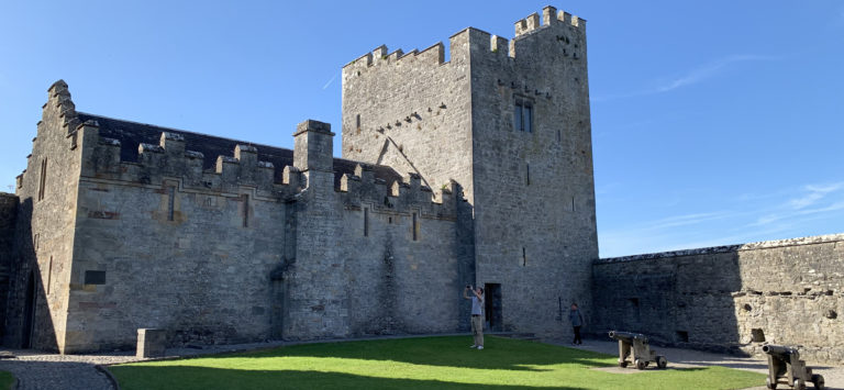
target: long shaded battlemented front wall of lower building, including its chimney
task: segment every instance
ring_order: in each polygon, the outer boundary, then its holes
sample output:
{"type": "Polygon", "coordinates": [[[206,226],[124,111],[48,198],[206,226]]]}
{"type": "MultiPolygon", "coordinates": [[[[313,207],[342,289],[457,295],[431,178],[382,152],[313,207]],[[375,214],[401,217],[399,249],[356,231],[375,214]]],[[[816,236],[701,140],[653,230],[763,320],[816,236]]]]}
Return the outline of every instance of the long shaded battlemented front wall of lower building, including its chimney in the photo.
{"type": "Polygon", "coordinates": [[[457,187],[434,192],[414,175],[388,185],[358,165],[335,188],[329,130],[297,132],[284,182],[254,146],[207,170],[177,133],[140,144],[137,161],[96,121],[76,135],[71,270],[53,292],[68,302],[63,353],[131,348],[138,328],[185,345],[462,326],[471,257],[457,187]]]}

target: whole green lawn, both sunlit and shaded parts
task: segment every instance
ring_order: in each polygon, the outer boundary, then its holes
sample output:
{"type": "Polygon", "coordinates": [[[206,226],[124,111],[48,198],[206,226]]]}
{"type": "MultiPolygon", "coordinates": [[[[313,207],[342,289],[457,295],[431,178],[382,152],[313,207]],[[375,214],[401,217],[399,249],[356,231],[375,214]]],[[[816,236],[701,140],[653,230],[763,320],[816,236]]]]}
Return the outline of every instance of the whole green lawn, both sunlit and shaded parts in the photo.
{"type": "MultiPolygon", "coordinates": [[[[121,389],[741,389],[765,376],[723,367],[610,374],[615,357],[487,337],[307,344],[109,367],[121,389]]],[[[653,365],[652,365],[653,367],[653,365]]]]}

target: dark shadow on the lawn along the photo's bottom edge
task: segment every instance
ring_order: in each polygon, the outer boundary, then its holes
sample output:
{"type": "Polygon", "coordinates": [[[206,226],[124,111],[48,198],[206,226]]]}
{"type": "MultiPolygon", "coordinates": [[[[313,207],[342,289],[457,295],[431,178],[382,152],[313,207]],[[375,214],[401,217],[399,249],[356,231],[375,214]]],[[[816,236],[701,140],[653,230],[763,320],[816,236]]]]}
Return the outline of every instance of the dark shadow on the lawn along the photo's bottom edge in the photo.
{"type": "MultiPolygon", "coordinates": [[[[375,378],[323,371],[260,371],[208,367],[113,366],[123,390],[155,389],[515,389],[522,386],[473,385],[441,380],[375,378]],[[186,380],[189,378],[189,380],[186,380]]],[[[531,389],[579,389],[532,387],[531,389]]]]}

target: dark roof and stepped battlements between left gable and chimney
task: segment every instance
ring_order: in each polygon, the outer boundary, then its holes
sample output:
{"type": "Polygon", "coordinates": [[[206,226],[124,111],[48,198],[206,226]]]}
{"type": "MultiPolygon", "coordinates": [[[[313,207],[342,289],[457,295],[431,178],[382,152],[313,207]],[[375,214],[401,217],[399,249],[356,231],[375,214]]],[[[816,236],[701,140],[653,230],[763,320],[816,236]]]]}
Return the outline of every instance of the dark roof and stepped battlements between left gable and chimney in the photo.
{"type": "MultiPolygon", "coordinates": [[[[255,145],[87,113],[79,113],[79,118],[85,122],[73,134],[82,140],[85,177],[152,186],[160,185],[165,179],[180,178],[182,188],[237,192],[241,187],[251,187],[264,197],[299,190],[298,177],[282,180],[282,170],[298,170],[281,166],[276,172],[273,161],[259,159],[259,148],[255,145]],[[222,152],[226,144],[232,145],[227,154],[222,152]],[[198,151],[191,151],[191,147],[198,151]],[[219,154],[208,155],[200,151],[219,154]]],[[[273,156],[278,154],[279,151],[270,153],[273,156]]],[[[292,153],[289,155],[289,163],[292,163],[292,153]]]]}

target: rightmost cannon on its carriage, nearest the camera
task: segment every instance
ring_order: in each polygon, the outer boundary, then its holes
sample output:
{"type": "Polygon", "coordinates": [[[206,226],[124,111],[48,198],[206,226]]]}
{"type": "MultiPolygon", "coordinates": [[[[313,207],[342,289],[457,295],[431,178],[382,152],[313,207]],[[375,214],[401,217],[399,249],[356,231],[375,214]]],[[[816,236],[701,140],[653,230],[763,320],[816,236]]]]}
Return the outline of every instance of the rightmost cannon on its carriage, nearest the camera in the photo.
{"type": "Polygon", "coordinates": [[[762,352],[768,355],[768,378],[765,379],[768,389],[786,385],[792,389],[804,390],[806,382],[812,382],[815,389],[823,390],[823,377],[812,374],[812,369],[806,367],[806,361],[800,360],[800,352],[797,348],[766,344],[762,346],[762,352]]]}

